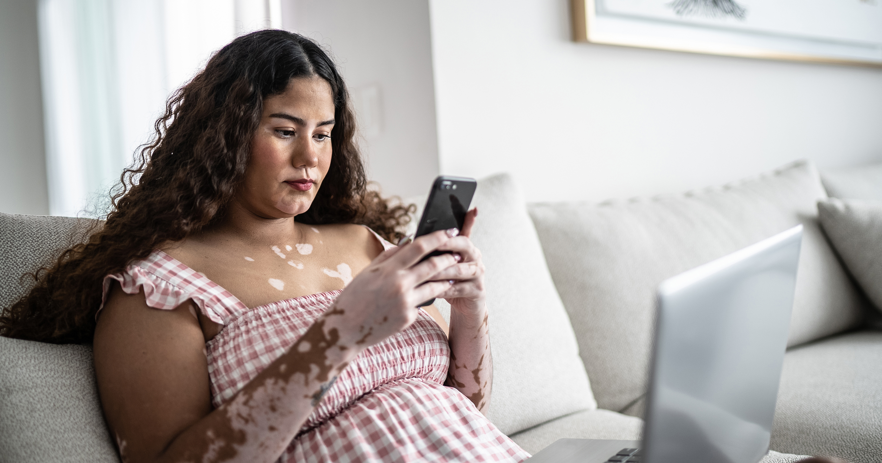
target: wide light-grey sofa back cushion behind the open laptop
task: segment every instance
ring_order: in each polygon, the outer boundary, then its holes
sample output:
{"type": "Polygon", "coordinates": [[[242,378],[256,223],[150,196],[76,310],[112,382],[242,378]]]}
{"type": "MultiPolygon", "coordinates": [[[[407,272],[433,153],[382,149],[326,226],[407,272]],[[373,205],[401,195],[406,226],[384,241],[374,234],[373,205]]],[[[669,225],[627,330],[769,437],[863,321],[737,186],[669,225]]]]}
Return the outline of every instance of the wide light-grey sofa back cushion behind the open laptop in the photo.
{"type": "Polygon", "coordinates": [[[601,408],[622,411],[645,392],[659,283],[804,225],[789,345],[856,326],[863,300],[818,227],[825,192],[815,168],[682,195],[530,205],[557,291],[601,408]]]}

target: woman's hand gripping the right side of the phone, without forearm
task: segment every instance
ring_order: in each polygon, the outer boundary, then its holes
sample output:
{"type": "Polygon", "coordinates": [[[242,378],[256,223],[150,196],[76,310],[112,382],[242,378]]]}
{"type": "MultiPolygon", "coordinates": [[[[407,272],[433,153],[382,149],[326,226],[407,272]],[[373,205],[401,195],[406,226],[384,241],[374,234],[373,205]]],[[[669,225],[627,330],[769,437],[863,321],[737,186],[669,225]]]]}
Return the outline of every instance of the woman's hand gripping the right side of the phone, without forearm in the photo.
{"type": "Polygon", "coordinates": [[[460,234],[438,246],[438,250],[452,251],[454,258],[459,259],[459,263],[445,268],[430,278],[430,280],[453,280],[452,287],[438,297],[445,298],[450,302],[452,310],[457,310],[461,315],[482,314],[487,301],[481,251],[470,239],[477,216],[477,208],[468,211],[460,234]]]}

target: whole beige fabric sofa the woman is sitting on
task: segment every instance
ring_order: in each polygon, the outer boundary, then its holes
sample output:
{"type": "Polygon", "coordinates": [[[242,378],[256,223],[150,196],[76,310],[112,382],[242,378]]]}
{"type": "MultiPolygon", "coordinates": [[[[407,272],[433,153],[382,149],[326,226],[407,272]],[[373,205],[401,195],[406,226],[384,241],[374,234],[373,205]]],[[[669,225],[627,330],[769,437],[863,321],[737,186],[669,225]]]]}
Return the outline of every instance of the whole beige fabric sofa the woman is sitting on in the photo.
{"type": "MultiPolygon", "coordinates": [[[[845,191],[849,183],[841,183],[845,191]]],[[[655,286],[801,222],[771,443],[787,454],[764,461],[882,461],[879,314],[828,243],[818,200],[829,202],[807,162],[721,187],[602,204],[527,205],[507,175],[480,181],[474,240],[489,269],[490,419],[528,452],[560,437],[639,438],[655,286]]],[[[26,290],[19,275],[77,226],[0,215],[0,304],[26,290]]],[[[0,462],[116,461],[88,347],[0,339],[0,353],[0,462]]]]}

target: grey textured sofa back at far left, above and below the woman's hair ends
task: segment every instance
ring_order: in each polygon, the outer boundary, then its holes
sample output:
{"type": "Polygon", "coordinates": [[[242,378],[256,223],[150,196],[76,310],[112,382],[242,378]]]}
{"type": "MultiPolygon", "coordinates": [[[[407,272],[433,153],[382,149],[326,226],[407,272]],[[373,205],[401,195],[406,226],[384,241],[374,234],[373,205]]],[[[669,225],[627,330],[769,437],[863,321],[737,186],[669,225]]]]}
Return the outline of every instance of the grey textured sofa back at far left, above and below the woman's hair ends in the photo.
{"type": "MultiPolygon", "coordinates": [[[[85,239],[93,220],[0,213],[0,307],[23,279],[85,239]]],[[[119,461],[101,416],[92,350],[0,338],[0,461],[119,461]]]]}

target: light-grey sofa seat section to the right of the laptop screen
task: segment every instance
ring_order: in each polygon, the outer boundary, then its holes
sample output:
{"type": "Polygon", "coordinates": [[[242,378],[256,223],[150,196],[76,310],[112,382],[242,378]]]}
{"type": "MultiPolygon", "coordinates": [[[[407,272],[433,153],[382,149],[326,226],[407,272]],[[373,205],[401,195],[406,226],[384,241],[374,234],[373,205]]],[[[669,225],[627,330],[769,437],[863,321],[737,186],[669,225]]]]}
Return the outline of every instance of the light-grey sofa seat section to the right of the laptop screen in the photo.
{"type": "Polygon", "coordinates": [[[772,448],[882,461],[882,332],[852,332],[784,356],[772,448]]]}

